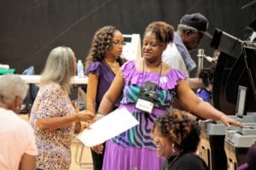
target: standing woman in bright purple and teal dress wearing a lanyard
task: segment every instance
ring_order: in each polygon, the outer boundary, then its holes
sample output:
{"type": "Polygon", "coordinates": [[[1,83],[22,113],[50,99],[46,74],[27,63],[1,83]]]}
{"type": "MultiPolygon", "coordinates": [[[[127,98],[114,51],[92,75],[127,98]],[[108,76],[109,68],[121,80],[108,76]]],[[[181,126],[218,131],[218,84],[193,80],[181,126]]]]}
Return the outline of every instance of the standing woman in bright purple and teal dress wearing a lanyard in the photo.
{"type": "Polygon", "coordinates": [[[201,118],[221,120],[228,127],[241,126],[199,99],[186,76],[162,62],[161,54],[172,40],[172,26],[161,21],[149,24],[143,37],[143,58],[122,65],[104,95],[100,113],[108,114],[119,101],[119,108],[125,107],[139,124],[106,142],[102,169],[160,169],[163,158],[155,155],[150,130],[154,120],[174,104],[201,118]]]}

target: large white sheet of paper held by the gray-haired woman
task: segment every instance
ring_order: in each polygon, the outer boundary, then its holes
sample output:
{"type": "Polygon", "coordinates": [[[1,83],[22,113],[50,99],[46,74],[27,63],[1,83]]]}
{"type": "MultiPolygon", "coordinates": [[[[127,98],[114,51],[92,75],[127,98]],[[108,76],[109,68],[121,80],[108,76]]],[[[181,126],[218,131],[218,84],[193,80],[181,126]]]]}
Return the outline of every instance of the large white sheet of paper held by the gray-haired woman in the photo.
{"type": "Polygon", "coordinates": [[[125,108],[117,109],[92,123],[90,129],[84,129],[82,133],[77,135],[77,138],[85,146],[91,147],[112,139],[119,133],[123,133],[125,130],[136,126],[138,123],[136,118],[131,116],[131,113],[125,108]]]}

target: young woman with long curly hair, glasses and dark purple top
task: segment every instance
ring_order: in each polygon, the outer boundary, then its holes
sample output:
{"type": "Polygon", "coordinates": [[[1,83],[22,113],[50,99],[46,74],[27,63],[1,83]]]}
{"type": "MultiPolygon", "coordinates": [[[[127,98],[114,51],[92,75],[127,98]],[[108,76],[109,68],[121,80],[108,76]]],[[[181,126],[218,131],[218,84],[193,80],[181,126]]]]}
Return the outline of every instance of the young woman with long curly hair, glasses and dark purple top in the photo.
{"type": "MultiPolygon", "coordinates": [[[[88,111],[96,113],[103,95],[125,62],[120,58],[123,45],[123,35],[114,26],[104,26],[96,31],[85,61],[85,74],[89,77],[86,102],[88,111]]],[[[104,150],[102,154],[97,154],[94,150],[96,147],[91,150],[94,169],[101,170],[104,150]]]]}

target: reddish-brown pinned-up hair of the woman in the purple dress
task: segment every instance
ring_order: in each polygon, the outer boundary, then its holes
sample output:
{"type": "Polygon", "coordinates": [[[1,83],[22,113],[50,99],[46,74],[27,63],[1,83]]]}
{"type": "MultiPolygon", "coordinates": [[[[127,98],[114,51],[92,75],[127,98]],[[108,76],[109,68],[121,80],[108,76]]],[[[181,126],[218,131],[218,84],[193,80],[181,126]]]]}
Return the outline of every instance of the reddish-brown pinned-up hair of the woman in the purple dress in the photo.
{"type": "Polygon", "coordinates": [[[169,43],[173,41],[173,26],[163,21],[155,21],[150,23],[145,30],[145,34],[151,31],[155,34],[156,39],[161,43],[169,43]]]}

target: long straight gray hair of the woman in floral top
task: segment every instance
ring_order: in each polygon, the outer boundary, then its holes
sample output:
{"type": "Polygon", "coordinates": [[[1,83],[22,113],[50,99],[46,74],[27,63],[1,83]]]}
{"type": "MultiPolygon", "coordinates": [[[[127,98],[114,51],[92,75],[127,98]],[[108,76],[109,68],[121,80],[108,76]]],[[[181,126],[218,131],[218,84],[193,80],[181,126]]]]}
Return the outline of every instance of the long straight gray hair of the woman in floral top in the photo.
{"type": "Polygon", "coordinates": [[[75,75],[73,56],[74,53],[71,48],[57,47],[52,49],[41,76],[41,84],[55,82],[69,93],[71,78],[75,75]]]}

